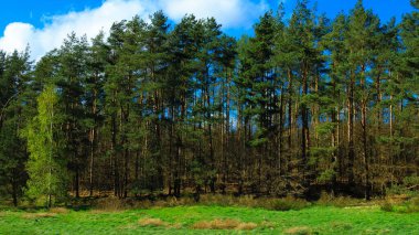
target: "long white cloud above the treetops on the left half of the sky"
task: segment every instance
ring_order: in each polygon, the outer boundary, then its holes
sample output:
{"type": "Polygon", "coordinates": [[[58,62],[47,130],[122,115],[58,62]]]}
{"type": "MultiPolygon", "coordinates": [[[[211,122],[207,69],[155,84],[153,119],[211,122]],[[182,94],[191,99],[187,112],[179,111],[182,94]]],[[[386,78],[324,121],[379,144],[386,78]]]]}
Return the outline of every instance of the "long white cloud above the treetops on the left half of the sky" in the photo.
{"type": "Polygon", "coordinates": [[[32,55],[39,60],[58,47],[72,31],[93,38],[100,30],[109,30],[115,21],[131,19],[136,14],[148,18],[159,9],[174,21],[193,13],[197,18],[214,17],[224,29],[246,29],[268,9],[268,4],[265,0],[257,3],[251,0],[106,0],[96,9],[50,17],[41,29],[23,22],[10,23],[0,38],[0,50],[23,51],[29,44],[32,55]]]}

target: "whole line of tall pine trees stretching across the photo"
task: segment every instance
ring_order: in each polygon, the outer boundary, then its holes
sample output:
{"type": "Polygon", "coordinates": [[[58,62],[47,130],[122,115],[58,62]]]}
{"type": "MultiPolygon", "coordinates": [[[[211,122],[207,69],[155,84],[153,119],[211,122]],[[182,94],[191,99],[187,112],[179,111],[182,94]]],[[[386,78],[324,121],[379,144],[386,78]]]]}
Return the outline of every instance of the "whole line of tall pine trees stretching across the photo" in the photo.
{"type": "Polygon", "coordinates": [[[419,177],[418,22],[300,0],[239,40],[159,11],[0,52],[0,194],[385,194],[419,177]]]}

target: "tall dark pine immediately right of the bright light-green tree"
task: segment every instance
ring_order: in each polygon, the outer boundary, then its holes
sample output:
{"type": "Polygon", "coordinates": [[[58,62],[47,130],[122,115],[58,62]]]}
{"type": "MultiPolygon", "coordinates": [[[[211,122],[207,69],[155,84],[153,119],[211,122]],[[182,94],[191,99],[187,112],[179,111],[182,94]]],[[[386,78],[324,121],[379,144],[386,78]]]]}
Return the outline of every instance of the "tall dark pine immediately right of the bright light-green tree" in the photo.
{"type": "Polygon", "coordinates": [[[80,174],[86,167],[88,152],[86,143],[89,129],[86,117],[85,86],[88,77],[87,60],[88,43],[85,36],[77,38],[75,33],[64,40],[57,51],[56,84],[62,89],[60,106],[65,118],[66,151],[68,152],[69,170],[73,172],[73,189],[79,196],[80,174]]]}

